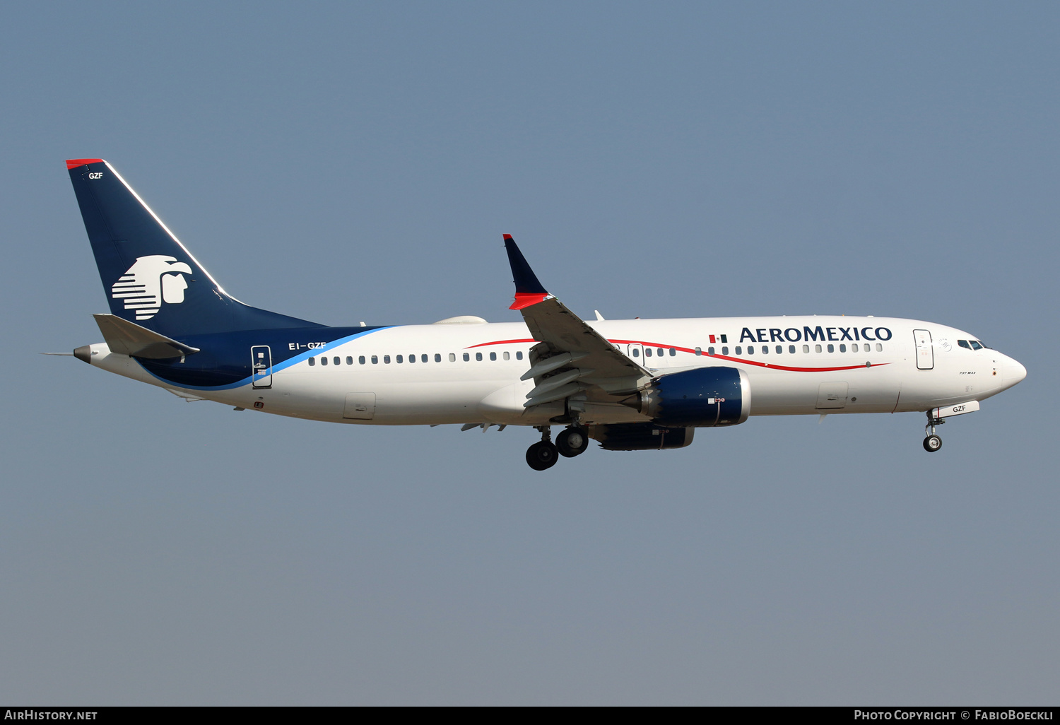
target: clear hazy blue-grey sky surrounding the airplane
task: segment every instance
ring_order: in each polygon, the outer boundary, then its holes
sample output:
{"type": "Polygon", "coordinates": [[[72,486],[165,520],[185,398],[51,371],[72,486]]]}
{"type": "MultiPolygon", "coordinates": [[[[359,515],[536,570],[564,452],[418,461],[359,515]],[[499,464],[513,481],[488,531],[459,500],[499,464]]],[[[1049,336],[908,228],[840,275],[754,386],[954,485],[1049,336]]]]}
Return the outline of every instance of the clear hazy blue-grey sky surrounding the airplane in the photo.
{"type": "Polygon", "coordinates": [[[1045,704],[1050,3],[15,3],[0,25],[0,700],[1045,704]],[[516,320],[501,233],[606,317],[874,314],[1028,369],[530,471],[41,357],[106,308],[63,160],[328,324],[516,320]]]}

